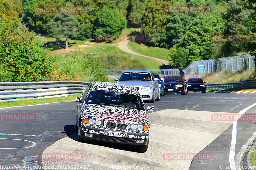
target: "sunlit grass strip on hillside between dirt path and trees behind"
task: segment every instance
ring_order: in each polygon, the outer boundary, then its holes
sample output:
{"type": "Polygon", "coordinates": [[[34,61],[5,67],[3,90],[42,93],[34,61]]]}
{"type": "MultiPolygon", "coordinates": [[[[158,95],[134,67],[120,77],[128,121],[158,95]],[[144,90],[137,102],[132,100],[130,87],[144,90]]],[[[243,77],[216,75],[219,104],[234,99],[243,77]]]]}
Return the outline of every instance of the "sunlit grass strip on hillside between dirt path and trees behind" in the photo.
{"type": "Polygon", "coordinates": [[[169,50],[166,48],[148,47],[144,44],[139,44],[137,42],[128,42],[127,46],[129,49],[136,53],[147,55],[154,58],[160,58],[163,60],[167,60],[167,55],[169,52],[169,50]]]}

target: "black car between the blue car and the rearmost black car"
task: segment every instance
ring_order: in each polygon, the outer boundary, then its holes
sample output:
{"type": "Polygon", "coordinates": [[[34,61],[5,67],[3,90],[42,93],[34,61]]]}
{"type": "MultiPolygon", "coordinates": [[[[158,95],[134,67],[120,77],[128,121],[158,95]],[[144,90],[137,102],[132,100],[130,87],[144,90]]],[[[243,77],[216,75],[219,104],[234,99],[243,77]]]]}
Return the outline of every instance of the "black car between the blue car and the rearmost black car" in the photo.
{"type": "Polygon", "coordinates": [[[187,94],[186,80],[180,75],[164,76],[161,80],[164,80],[164,91],[168,92],[180,92],[181,94],[187,94]]]}

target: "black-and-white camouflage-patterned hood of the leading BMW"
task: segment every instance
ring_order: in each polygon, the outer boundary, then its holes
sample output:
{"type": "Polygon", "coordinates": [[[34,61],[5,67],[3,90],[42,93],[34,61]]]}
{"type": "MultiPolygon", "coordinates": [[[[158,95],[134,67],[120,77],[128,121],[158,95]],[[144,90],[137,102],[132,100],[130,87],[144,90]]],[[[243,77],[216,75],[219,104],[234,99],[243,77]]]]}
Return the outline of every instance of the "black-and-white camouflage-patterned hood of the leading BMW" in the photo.
{"type": "Polygon", "coordinates": [[[145,110],[100,104],[86,104],[85,110],[88,118],[100,121],[141,121],[148,123],[148,114],[145,110]]]}

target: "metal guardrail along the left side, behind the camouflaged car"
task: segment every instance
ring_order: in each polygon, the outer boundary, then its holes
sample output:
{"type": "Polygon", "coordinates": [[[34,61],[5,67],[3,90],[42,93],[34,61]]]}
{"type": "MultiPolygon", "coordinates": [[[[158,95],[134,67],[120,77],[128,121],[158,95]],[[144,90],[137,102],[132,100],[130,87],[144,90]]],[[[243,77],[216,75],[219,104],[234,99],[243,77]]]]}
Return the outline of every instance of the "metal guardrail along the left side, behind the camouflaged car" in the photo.
{"type": "Polygon", "coordinates": [[[52,98],[82,93],[82,81],[0,82],[0,102],[52,98]]]}

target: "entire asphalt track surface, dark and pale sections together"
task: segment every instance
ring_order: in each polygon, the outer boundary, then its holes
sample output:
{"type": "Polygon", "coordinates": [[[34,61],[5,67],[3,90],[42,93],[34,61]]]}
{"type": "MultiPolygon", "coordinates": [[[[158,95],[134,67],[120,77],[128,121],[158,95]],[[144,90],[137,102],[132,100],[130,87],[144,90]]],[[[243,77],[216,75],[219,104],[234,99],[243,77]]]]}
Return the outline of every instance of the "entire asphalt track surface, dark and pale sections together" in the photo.
{"type": "MultiPolygon", "coordinates": [[[[155,106],[154,111],[148,112],[151,129],[146,153],[136,152],[132,145],[78,142],[74,101],[0,109],[0,170],[42,164],[44,169],[54,169],[51,165],[73,165],[69,169],[78,169],[78,165],[84,165],[80,169],[229,169],[233,120],[216,121],[212,115],[237,114],[254,104],[255,99],[255,94],[188,93],[165,95],[155,103],[145,102],[146,107],[155,106]],[[8,114],[32,115],[32,119],[13,121],[2,117],[8,114]],[[195,156],[198,152],[200,159],[195,156]],[[79,153],[83,159],[40,161],[35,159],[40,153],[79,153]],[[192,158],[173,157],[175,154],[192,158]],[[205,154],[211,158],[204,159],[205,154]]],[[[255,107],[246,112],[251,113],[256,113],[255,107]]],[[[244,144],[256,131],[255,123],[249,119],[237,122],[237,165],[244,144]]]]}

